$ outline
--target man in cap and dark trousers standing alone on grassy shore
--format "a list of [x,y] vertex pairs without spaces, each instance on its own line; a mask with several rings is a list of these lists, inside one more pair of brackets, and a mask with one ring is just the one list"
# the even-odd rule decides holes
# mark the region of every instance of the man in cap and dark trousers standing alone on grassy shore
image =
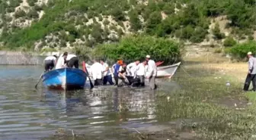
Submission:
[[256,91],[256,58],[253,57],[251,51],[247,53],[248,61],[248,74],[245,79],[244,91],[248,91],[252,81],[253,91]]

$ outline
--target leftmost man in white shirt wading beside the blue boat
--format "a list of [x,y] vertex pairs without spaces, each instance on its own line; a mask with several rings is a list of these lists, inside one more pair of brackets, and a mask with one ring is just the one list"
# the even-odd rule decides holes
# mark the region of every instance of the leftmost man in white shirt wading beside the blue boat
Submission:
[[102,73],[104,72],[102,64],[94,60],[94,64],[91,65],[91,75],[94,79],[94,86],[102,85]]

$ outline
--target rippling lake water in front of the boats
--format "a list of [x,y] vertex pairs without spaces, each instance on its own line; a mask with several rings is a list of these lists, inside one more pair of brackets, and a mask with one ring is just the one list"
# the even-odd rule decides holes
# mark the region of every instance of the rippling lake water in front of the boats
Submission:
[[42,70],[0,66],[0,139],[42,139],[59,129],[103,138],[113,130],[111,139],[125,138],[115,131],[155,126],[156,93],[177,88],[174,82],[159,82],[157,91],[102,86],[62,92],[44,89],[40,83],[35,90]]

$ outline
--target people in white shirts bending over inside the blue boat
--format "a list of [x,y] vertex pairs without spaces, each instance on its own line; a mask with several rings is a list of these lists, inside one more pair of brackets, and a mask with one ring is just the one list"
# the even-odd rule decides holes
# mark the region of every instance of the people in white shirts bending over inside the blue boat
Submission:
[[64,54],[62,54],[59,58],[58,57],[58,54],[55,53],[44,59],[45,72],[53,70],[53,67],[56,69],[61,69],[64,67],[79,67],[79,60],[75,54],[68,54],[68,52],[64,52]]

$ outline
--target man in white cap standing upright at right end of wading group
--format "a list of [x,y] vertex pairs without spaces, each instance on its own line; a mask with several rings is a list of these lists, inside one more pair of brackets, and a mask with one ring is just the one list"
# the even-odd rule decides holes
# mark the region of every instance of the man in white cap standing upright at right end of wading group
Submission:
[[157,75],[157,68],[155,65],[155,61],[150,59],[150,55],[146,55],[146,61],[148,62],[148,70],[146,73],[146,78],[149,79],[150,89],[156,89],[155,77]]

